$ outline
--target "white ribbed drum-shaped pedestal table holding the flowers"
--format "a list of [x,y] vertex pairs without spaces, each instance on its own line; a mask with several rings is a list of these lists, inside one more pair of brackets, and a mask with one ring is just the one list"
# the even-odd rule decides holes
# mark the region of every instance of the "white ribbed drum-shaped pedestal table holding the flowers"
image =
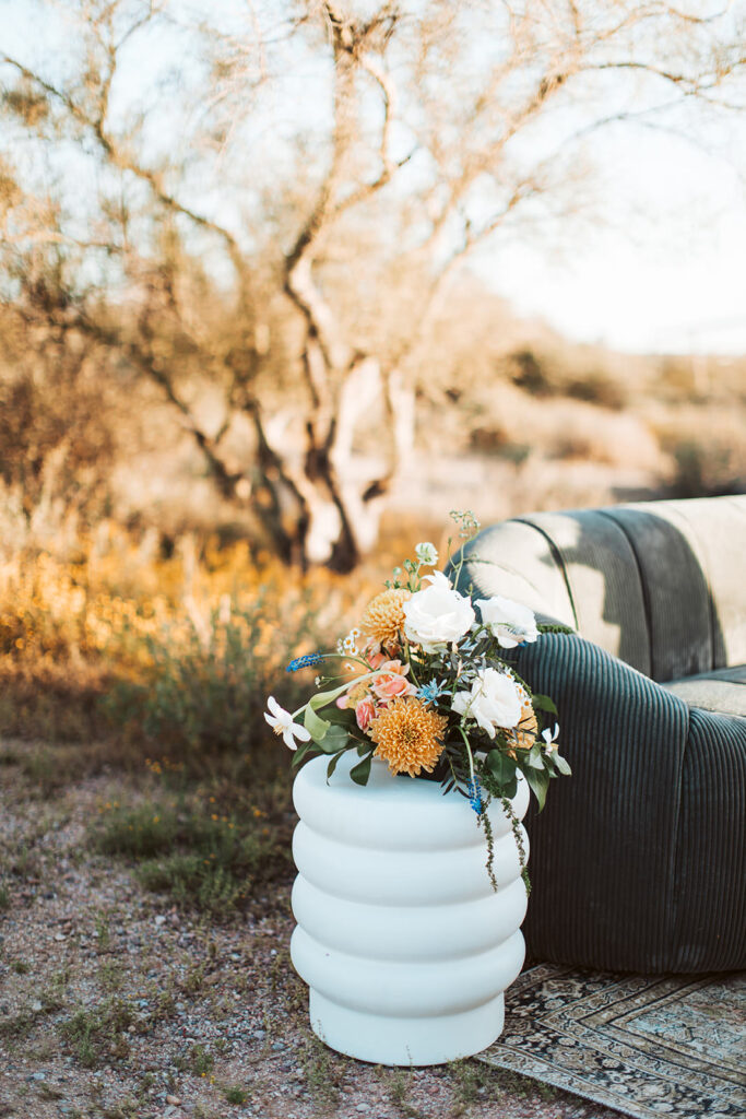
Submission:
[[[291,957],[310,987],[311,1026],[376,1064],[471,1056],[500,1035],[502,993],[523,962],[526,887],[510,821],[493,802],[495,893],[469,801],[377,761],[360,788],[349,777],[358,761],[343,755],[328,784],[328,759],[317,758],[293,788]],[[528,798],[521,779],[519,818]]]

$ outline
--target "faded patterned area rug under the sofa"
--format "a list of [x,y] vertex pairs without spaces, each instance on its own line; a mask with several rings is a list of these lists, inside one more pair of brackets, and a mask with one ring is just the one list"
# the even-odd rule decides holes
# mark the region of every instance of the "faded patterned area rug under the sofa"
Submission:
[[480,1060],[635,1119],[744,1119],[746,972],[631,976],[541,963]]

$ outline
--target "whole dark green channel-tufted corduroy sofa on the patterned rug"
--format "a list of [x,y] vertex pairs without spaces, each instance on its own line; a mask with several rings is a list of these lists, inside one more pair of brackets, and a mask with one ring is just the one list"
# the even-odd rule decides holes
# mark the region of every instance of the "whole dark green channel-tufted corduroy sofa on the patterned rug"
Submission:
[[460,586],[526,602],[516,667],[573,777],[528,819],[529,953],[746,967],[746,496],[542,513],[484,529]]

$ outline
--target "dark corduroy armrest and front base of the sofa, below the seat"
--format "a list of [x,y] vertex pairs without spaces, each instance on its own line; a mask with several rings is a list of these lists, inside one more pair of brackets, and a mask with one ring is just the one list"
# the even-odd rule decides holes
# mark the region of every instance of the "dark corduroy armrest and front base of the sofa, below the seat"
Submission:
[[511,657],[559,712],[573,777],[529,811],[533,957],[633,971],[746,966],[746,720],[690,709],[576,634]]

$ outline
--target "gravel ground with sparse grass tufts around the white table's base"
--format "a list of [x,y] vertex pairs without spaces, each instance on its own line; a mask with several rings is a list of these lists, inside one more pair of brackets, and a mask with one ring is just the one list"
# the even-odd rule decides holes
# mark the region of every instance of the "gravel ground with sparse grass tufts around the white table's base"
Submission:
[[104,774],[32,791],[0,767],[0,1117],[617,1116],[473,1060],[332,1053],[290,966],[290,883],[230,923],[192,918],[86,843],[100,806],[136,789]]

